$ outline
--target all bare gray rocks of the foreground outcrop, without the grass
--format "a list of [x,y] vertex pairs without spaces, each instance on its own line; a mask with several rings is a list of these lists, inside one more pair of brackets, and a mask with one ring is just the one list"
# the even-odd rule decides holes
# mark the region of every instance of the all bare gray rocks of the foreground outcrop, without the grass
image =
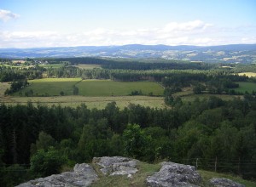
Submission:
[[[85,163],[76,164],[73,172],[37,178],[20,184],[18,187],[86,187],[99,180],[102,175],[127,175],[129,181],[132,181],[133,175],[138,171],[137,162],[137,160],[121,156],[95,157],[92,164],[94,168]],[[193,166],[170,161],[162,162],[160,171],[146,178],[145,182],[148,187],[195,187],[201,185],[201,176]],[[214,187],[244,187],[227,178],[212,178],[209,184]]]

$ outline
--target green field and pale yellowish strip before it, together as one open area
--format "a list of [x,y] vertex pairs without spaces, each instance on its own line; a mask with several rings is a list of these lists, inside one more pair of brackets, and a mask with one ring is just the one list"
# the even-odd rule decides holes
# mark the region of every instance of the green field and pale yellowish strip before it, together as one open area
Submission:
[[[88,108],[104,108],[109,102],[115,101],[120,109],[129,104],[143,105],[154,108],[166,107],[163,97],[128,96],[131,91],[142,90],[143,94],[152,92],[162,95],[163,88],[155,82],[113,82],[110,80],[83,80],[80,78],[45,78],[29,81],[30,85],[11,96],[4,96],[9,83],[1,83],[0,103],[7,105],[33,104],[61,105],[76,107],[84,103]],[[79,88],[79,95],[73,94],[73,85]],[[25,93],[33,90],[33,97],[25,97]],[[60,96],[63,91],[65,96]],[[20,94],[22,93],[22,94]],[[23,97],[20,97],[22,95]],[[48,97],[42,97],[48,96]]]

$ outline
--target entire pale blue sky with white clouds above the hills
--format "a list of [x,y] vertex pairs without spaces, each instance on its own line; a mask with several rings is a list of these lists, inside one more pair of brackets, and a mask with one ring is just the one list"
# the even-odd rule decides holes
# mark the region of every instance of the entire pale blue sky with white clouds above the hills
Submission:
[[0,0],[0,48],[256,43],[256,0]]

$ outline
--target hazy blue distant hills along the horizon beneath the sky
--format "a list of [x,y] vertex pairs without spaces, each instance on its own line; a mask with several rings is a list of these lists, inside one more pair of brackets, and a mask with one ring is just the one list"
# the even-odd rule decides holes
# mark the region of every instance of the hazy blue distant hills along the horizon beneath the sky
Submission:
[[166,46],[131,44],[123,46],[81,46],[57,48],[0,48],[0,58],[160,58],[205,62],[256,63],[256,44],[222,46]]

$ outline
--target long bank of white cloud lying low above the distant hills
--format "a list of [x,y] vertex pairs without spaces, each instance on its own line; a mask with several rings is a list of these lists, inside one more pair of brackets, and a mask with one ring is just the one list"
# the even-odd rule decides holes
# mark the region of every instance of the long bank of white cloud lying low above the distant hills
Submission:
[[[255,35],[244,35],[247,28],[243,27],[243,29],[242,32],[231,30],[229,27],[223,29],[201,20],[194,20],[183,23],[171,22],[166,26],[152,29],[113,30],[96,28],[91,31],[68,34],[57,31],[0,31],[0,48],[103,46],[132,43],[150,45],[256,43]],[[252,30],[252,28],[250,29]]]

